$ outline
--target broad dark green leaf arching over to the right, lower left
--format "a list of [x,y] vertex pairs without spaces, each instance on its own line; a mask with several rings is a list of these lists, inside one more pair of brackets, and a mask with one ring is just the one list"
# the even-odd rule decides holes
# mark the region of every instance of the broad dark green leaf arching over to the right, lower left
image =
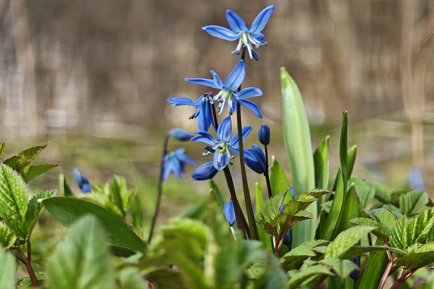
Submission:
[[93,214],[108,234],[109,244],[125,247],[147,255],[146,244],[115,214],[88,201],[68,197],[52,197],[42,204],[65,227],[69,228],[79,218]]

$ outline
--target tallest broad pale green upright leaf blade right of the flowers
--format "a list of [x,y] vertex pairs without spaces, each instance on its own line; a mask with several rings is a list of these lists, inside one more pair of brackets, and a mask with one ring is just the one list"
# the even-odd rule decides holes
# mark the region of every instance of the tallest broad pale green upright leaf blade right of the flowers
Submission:
[[[282,121],[283,140],[291,169],[294,196],[315,188],[315,169],[313,165],[312,142],[309,122],[297,84],[284,67],[280,68],[282,83]],[[316,202],[306,211],[317,216]],[[294,225],[292,247],[315,238],[316,220],[306,220]]]

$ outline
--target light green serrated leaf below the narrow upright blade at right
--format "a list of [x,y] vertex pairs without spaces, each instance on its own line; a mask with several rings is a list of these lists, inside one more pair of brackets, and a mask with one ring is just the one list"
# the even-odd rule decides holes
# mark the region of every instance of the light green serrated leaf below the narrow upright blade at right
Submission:
[[327,246],[324,257],[342,257],[358,240],[374,229],[374,226],[359,225],[343,231]]

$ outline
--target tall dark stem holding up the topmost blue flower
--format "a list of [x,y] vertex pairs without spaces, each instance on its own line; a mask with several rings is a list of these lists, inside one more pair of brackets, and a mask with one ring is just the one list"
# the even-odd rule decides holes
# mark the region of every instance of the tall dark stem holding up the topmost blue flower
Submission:
[[[246,57],[246,49],[243,47],[241,59]],[[238,92],[241,90],[241,85]],[[244,200],[246,201],[247,219],[249,220],[250,231],[253,240],[259,240],[258,229],[256,228],[255,215],[253,214],[252,200],[250,199],[249,184],[247,182],[246,166],[244,165],[243,153],[243,127],[241,125],[241,105],[237,103],[237,124],[238,124],[238,144],[240,146],[240,165],[241,177],[243,179]]]

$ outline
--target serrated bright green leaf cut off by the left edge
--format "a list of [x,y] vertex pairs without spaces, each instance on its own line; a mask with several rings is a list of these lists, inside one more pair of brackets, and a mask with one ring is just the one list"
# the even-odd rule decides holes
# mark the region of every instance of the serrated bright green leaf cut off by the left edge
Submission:
[[12,231],[25,239],[27,188],[23,178],[12,168],[0,164],[0,217]]

